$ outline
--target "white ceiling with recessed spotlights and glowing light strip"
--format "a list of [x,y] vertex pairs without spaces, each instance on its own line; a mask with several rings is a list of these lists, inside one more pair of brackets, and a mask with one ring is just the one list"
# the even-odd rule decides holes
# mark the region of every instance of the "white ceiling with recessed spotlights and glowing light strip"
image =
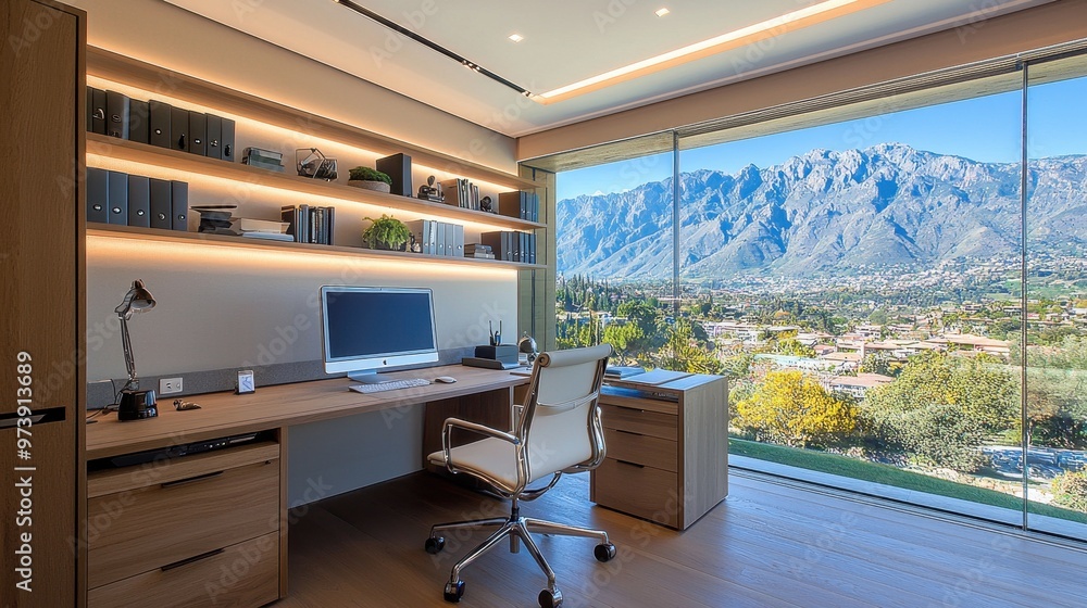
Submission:
[[[548,105],[332,0],[166,0],[511,137],[959,28],[1050,0],[888,0]],[[813,0],[355,0],[534,93],[733,31]],[[658,17],[666,7],[671,13]],[[511,34],[521,42],[508,39]]]

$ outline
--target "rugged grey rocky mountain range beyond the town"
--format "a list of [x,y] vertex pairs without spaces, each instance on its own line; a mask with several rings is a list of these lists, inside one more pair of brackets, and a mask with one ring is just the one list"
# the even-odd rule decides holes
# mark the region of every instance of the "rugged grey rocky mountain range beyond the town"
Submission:
[[[560,177],[561,179],[561,177]],[[883,143],[736,174],[679,175],[685,277],[854,274],[1007,256],[1021,248],[1019,163]],[[1033,161],[1028,246],[1087,244],[1087,156]],[[561,274],[672,275],[672,179],[558,202]]]

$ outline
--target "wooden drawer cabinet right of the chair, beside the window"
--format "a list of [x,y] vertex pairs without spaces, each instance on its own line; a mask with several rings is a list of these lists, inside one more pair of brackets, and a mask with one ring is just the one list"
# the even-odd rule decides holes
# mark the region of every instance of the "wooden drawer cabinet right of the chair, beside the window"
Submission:
[[592,471],[595,503],[685,530],[728,495],[725,378],[610,381],[600,409],[608,456]]

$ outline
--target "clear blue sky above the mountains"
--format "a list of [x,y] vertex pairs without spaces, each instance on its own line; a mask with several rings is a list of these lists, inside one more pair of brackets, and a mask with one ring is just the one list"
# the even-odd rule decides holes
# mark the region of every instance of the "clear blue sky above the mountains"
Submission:
[[[1087,78],[1030,88],[1032,157],[1087,153]],[[1015,162],[1020,151],[1022,94],[1019,91],[919,107],[821,127],[686,150],[679,170],[735,173],[748,164],[765,168],[814,148],[864,149],[877,143],[905,143],[919,150],[955,154],[982,162]],[[672,154],[658,154],[564,172],[558,176],[559,200],[579,194],[621,192],[672,175]]]

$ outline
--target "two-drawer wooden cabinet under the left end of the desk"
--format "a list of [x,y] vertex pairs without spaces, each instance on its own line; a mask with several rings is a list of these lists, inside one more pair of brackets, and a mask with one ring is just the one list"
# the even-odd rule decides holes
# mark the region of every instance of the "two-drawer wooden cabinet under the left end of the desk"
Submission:
[[261,606],[279,597],[275,441],[91,472],[88,606]]

